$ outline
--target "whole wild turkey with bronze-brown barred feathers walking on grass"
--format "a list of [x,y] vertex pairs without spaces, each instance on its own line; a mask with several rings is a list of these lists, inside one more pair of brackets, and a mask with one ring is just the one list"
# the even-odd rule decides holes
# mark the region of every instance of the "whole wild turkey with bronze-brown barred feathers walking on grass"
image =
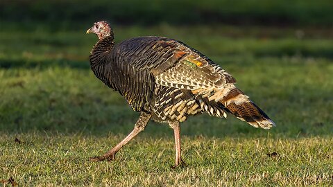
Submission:
[[95,23],[87,33],[99,37],[89,56],[96,77],[141,112],[134,130],[92,161],[113,160],[151,118],[173,128],[175,167],[182,163],[180,122],[191,115],[207,112],[221,118],[230,113],[253,127],[275,126],[262,109],[234,86],[232,75],[182,42],[166,37],[136,37],[114,45],[114,34],[106,21]]

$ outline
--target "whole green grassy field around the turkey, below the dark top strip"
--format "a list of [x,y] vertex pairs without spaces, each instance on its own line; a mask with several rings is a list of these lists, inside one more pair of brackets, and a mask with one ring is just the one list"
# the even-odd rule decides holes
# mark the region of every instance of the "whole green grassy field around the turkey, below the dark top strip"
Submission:
[[95,36],[0,30],[0,180],[12,177],[20,186],[332,186],[330,31],[116,27],[117,41],[164,35],[202,51],[277,124],[266,131],[232,116],[189,118],[182,124],[187,167],[173,170],[173,132],[157,123],[116,161],[87,160],[121,141],[138,118],[89,70]]

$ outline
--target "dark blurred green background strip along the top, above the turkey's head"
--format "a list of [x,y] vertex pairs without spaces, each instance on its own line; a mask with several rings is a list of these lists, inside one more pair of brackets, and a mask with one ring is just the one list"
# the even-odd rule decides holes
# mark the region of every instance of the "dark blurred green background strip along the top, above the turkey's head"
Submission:
[[4,0],[0,3],[1,17],[5,21],[48,22],[52,28],[77,28],[96,19],[123,25],[332,26],[332,9],[330,0]]

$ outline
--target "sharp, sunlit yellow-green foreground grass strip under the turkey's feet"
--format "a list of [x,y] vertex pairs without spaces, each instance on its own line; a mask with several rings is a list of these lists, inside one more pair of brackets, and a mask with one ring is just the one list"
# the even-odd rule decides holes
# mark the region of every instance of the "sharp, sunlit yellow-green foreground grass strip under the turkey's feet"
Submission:
[[[73,136],[74,135],[74,136]],[[143,135],[143,134],[142,134]],[[170,133],[171,135],[171,133]],[[2,171],[23,186],[320,186],[332,184],[333,139],[185,136],[186,168],[171,169],[173,139],[137,137],[113,162],[91,163],[123,136],[4,135]],[[267,153],[278,155],[268,157]],[[331,169],[330,169],[331,168]],[[6,176],[7,177],[7,176]],[[9,177],[8,177],[9,178]]]

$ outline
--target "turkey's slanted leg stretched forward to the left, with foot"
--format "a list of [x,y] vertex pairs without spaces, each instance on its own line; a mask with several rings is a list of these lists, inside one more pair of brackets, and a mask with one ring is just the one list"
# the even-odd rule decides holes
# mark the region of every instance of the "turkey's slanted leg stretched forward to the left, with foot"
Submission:
[[137,134],[139,134],[140,132],[142,132],[144,130],[144,127],[146,127],[150,118],[151,118],[151,114],[146,114],[146,113],[142,112],[140,114],[139,119],[137,120],[137,123],[135,123],[133,131],[130,132],[130,134],[128,134],[125,139],[123,139],[120,143],[118,143],[116,146],[114,146],[114,148],[112,148],[111,150],[109,150],[108,152],[103,154],[103,156],[92,157],[92,158],[90,158],[90,161],[103,161],[105,159],[108,161],[114,160],[114,156],[123,147],[123,145],[126,145],[126,143],[128,143],[128,141],[133,139],[135,136],[137,136]]

